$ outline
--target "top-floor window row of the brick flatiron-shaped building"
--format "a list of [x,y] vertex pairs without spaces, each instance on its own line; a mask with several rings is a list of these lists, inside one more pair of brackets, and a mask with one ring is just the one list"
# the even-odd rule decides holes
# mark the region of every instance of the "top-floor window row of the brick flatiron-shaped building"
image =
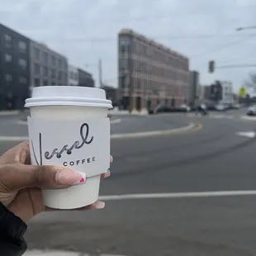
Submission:
[[119,52],[123,54],[130,53],[130,51],[135,55],[140,55],[147,59],[152,59],[161,64],[167,64],[171,67],[188,70],[187,60],[178,59],[175,56],[156,49],[156,47],[154,46],[144,45],[139,41],[133,41],[133,43],[130,44],[130,40],[120,38]]

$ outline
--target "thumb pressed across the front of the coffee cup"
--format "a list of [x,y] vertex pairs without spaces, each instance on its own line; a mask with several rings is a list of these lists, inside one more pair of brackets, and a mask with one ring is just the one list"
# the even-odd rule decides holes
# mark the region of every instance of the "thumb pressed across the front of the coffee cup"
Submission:
[[64,188],[83,183],[85,173],[50,165],[3,164],[0,183],[10,190],[24,187]]

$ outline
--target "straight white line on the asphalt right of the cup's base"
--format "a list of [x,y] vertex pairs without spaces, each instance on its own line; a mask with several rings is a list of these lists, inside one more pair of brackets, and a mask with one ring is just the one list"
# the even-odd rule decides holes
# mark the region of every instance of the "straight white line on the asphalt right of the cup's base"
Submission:
[[211,191],[211,192],[173,192],[154,194],[126,194],[99,197],[104,201],[135,200],[135,199],[160,199],[160,198],[190,198],[190,197],[240,197],[256,196],[256,190],[241,191]]

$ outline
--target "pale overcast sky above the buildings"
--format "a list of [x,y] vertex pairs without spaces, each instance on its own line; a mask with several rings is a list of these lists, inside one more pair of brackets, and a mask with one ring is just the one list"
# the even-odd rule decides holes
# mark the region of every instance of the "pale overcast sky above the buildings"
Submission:
[[[117,33],[130,28],[190,59],[201,84],[231,81],[235,90],[256,69],[255,0],[0,0],[0,22],[66,55],[98,84],[117,87]],[[216,72],[208,73],[208,61]],[[255,64],[255,68],[221,69]],[[218,67],[220,69],[218,69]],[[256,70],[255,70],[256,71]]]

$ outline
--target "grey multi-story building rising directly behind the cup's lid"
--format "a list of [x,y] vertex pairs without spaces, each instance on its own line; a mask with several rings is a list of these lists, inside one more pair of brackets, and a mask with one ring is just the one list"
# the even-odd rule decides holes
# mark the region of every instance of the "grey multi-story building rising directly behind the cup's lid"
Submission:
[[31,86],[67,85],[68,60],[47,45],[31,40]]

